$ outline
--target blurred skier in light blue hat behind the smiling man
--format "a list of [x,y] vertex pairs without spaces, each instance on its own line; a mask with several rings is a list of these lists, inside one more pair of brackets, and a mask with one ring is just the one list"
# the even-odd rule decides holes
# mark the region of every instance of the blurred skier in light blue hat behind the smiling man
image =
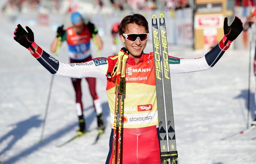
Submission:
[[[56,38],[51,43],[51,52],[56,52],[58,37],[61,37],[61,42],[66,41],[68,43],[70,63],[83,63],[92,60],[90,39],[95,37],[99,49],[102,49],[103,46],[102,40],[98,35],[97,28],[91,22],[85,24],[83,16],[78,12],[71,14],[71,22],[72,26],[66,28],[66,30],[63,29],[63,25],[57,29]],[[105,127],[103,123],[101,102],[96,93],[96,79],[90,77],[85,79],[89,85],[90,95],[93,99],[93,106],[98,122],[98,130],[102,133]],[[86,122],[83,115],[81,79],[71,78],[71,80],[75,90],[75,108],[77,110],[79,120],[79,130],[77,133],[83,134],[86,131]]]

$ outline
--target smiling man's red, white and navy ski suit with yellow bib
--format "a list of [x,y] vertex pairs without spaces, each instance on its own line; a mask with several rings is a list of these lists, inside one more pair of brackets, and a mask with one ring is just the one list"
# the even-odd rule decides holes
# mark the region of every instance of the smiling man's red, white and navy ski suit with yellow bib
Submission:
[[[170,74],[196,72],[211,69],[226,49],[221,42],[200,58],[176,58],[169,56]],[[110,151],[106,164],[111,164],[114,123],[114,82],[106,77],[109,58],[95,58],[85,63],[59,63],[40,47],[32,54],[49,72],[56,76],[101,79],[107,91],[111,118]],[[142,54],[136,64],[129,57],[126,64],[126,98],[124,100],[122,164],[160,164],[158,140],[157,98],[153,53]]]

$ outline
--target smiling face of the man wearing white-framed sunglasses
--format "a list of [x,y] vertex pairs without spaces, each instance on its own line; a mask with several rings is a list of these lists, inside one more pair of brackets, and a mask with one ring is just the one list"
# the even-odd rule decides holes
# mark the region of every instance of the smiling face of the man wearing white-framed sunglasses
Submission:
[[[131,34],[131,33],[147,33],[145,27],[137,25],[135,23],[130,23],[127,25],[126,30],[124,32],[125,34]],[[137,63],[143,53],[143,50],[146,48],[147,40],[144,42],[141,42],[139,38],[135,42],[131,42],[129,40],[126,40],[125,37],[120,34],[120,39],[125,44],[125,48],[130,52],[130,57],[134,58],[135,63]]]

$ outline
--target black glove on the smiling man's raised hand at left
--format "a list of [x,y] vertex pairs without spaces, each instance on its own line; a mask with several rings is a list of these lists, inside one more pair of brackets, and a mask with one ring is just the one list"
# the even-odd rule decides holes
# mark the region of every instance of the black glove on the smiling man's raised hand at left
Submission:
[[25,48],[29,49],[29,51],[35,52],[36,43],[34,42],[34,33],[33,31],[26,26],[26,30],[18,24],[17,28],[14,31],[14,40],[20,43],[20,45],[24,46]]

